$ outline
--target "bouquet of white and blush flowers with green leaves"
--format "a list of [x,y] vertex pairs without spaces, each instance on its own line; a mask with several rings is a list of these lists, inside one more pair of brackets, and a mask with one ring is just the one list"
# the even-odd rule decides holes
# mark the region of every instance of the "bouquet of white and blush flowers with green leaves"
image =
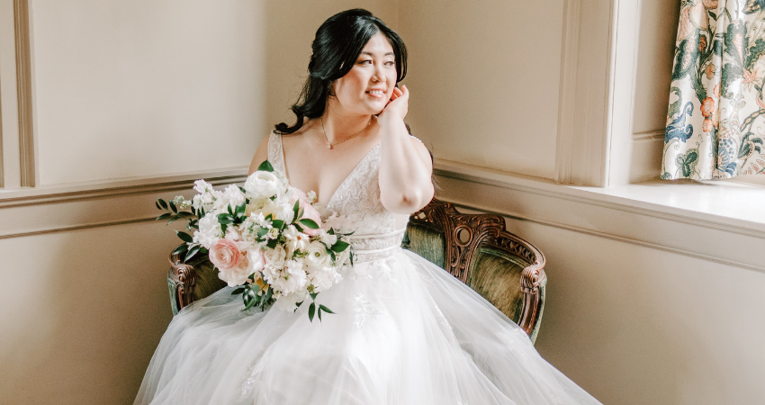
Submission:
[[184,262],[209,255],[220,279],[238,287],[232,294],[241,294],[243,311],[271,304],[297,311],[311,297],[311,321],[314,314],[321,320],[322,312],[334,313],[317,306],[316,296],[342,280],[338,269],[353,265],[352,247],[350,234],[322,228],[313,206],[316,193],[291,187],[267,160],[244,187],[230,184],[219,191],[197,180],[193,188],[192,200],[157,200],[157,208],[166,211],[157,220],[188,220],[186,229],[193,230],[175,231],[184,243],[174,254]]

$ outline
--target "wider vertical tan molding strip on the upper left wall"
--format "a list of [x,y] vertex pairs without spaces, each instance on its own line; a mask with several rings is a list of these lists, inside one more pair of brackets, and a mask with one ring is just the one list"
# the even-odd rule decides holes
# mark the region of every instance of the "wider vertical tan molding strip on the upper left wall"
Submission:
[[16,39],[16,91],[19,105],[19,154],[23,187],[37,184],[37,148],[31,90],[31,36],[29,0],[14,0]]

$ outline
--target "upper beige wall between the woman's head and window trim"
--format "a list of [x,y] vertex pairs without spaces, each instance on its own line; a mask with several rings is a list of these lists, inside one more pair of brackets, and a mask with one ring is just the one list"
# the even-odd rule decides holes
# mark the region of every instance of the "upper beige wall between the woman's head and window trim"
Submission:
[[554,178],[563,0],[401,2],[410,121],[436,157]]

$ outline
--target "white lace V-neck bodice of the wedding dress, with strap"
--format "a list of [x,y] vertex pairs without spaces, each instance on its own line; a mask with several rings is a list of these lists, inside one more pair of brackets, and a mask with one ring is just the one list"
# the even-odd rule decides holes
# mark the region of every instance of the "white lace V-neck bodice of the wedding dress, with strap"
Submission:
[[[374,253],[401,246],[403,229],[396,229],[396,217],[380,201],[378,173],[382,144],[377,144],[329,198],[327,206],[317,206],[321,220],[344,232],[354,232],[351,241],[356,252]],[[287,176],[282,136],[271,132],[268,161]],[[304,192],[304,191],[303,191]]]

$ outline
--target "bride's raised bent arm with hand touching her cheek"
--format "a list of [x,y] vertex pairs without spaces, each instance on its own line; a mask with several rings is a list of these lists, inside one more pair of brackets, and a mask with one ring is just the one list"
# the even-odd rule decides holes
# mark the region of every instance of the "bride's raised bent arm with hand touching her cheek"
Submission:
[[380,200],[395,213],[409,214],[433,198],[433,165],[428,148],[412,138],[404,124],[409,89],[395,89],[392,102],[378,116],[383,130],[383,157],[380,162]]

